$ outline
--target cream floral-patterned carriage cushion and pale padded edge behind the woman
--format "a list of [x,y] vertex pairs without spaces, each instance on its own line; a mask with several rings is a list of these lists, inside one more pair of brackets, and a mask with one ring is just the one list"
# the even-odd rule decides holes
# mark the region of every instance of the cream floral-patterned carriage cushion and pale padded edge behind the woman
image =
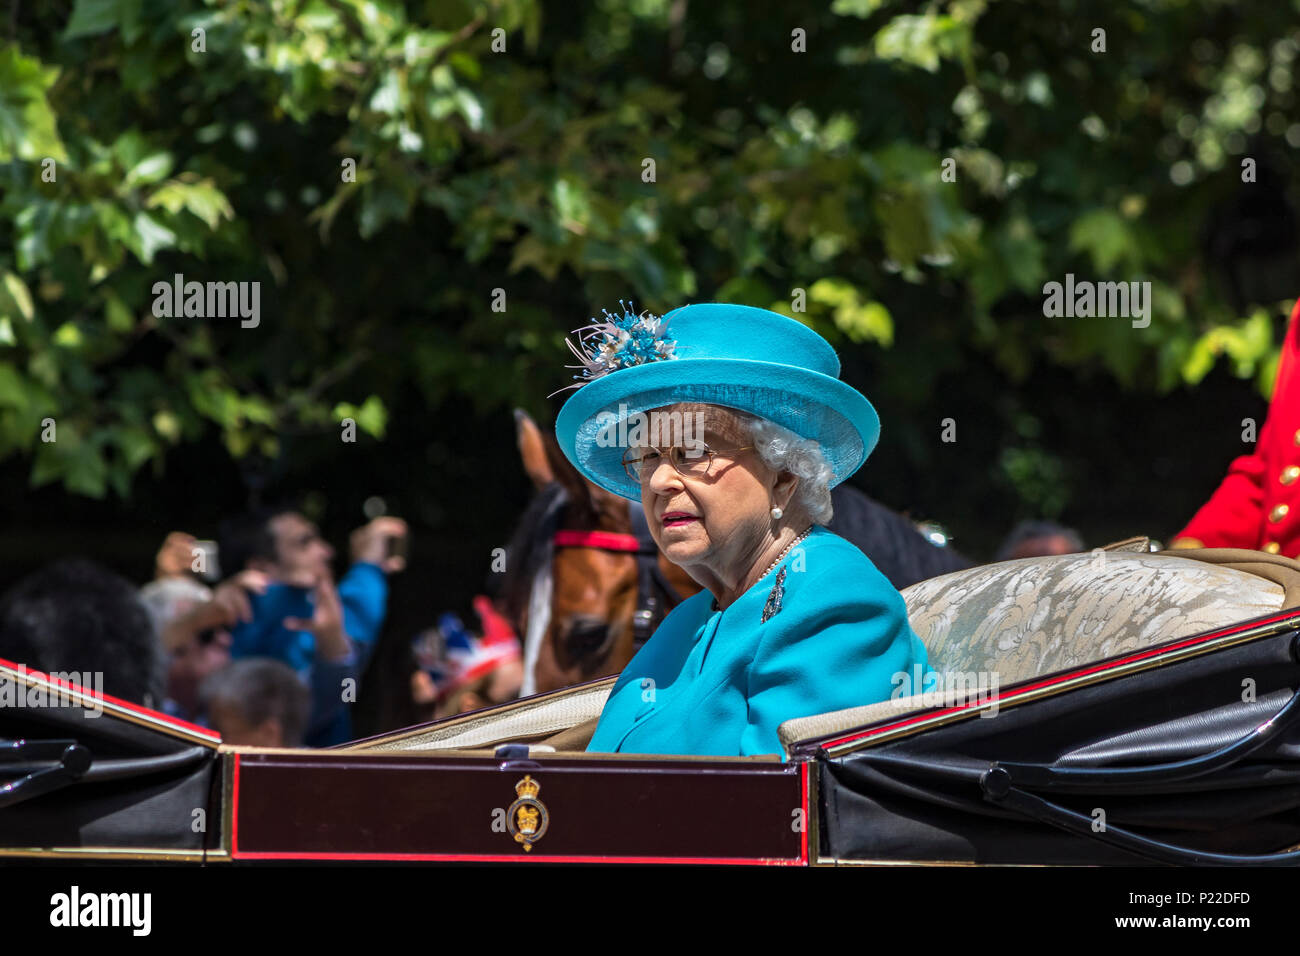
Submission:
[[[980,675],[998,688],[1277,611],[1297,596],[1300,564],[1235,551],[1092,551],[1022,558],[906,588],[907,617],[946,685]],[[1258,559],[1262,558],[1265,567]],[[1232,564],[1252,567],[1242,570]],[[1254,567],[1253,564],[1258,564]],[[1266,575],[1266,576],[1265,576]],[[984,676],[984,687],[992,678]],[[900,687],[904,687],[900,684]],[[927,709],[915,696],[786,721],[779,736],[827,736]]]

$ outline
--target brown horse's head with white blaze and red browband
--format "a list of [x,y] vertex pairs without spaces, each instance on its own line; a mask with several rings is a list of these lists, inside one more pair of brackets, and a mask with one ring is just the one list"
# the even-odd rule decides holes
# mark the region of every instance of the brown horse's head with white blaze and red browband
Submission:
[[[515,423],[537,489],[507,558],[506,604],[525,635],[525,692],[618,674],[633,654],[636,555],[598,542],[555,546],[554,538],[556,531],[630,535],[629,502],[584,479],[528,415],[516,411]],[[662,554],[658,562],[679,594],[699,589]]]

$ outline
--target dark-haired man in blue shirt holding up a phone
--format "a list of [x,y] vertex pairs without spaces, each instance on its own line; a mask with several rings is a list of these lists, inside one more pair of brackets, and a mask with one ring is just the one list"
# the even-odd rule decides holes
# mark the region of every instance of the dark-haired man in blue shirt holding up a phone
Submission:
[[[263,510],[231,523],[221,557],[231,572],[257,571],[264,584],[243,588],[234,607],[234,658],[283,661],[311,688],[306,744],[329,747],[352,737],[348,704],[384,626],[386,575],[406,558],[393,541],[407,537],[400,518],[376,518],[351,535],[352,566],[334,584],[334,549],[316,525],[291,509]],[[351,682],[351,683],[348,683]]]

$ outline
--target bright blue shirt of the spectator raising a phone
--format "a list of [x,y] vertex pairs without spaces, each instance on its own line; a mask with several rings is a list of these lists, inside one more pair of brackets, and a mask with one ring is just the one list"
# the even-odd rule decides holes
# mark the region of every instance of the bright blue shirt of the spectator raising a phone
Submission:
[[387,579],[378,564],[358,562],[343,575],[338,583],[338,600],[343,606],[343,632],[351,641],[352,652],[341,661],[317,661],[316,636],[283,624],[285,618],[311,619],[312,596],[306,588],[273,584],[265,594],[254,594],[252,620],[231,630],[233,658],[270,657],[282,661],[311,688],[308,747],[330,747],[352,739],[343,680],[360,680],[384,627],[387,596]]

